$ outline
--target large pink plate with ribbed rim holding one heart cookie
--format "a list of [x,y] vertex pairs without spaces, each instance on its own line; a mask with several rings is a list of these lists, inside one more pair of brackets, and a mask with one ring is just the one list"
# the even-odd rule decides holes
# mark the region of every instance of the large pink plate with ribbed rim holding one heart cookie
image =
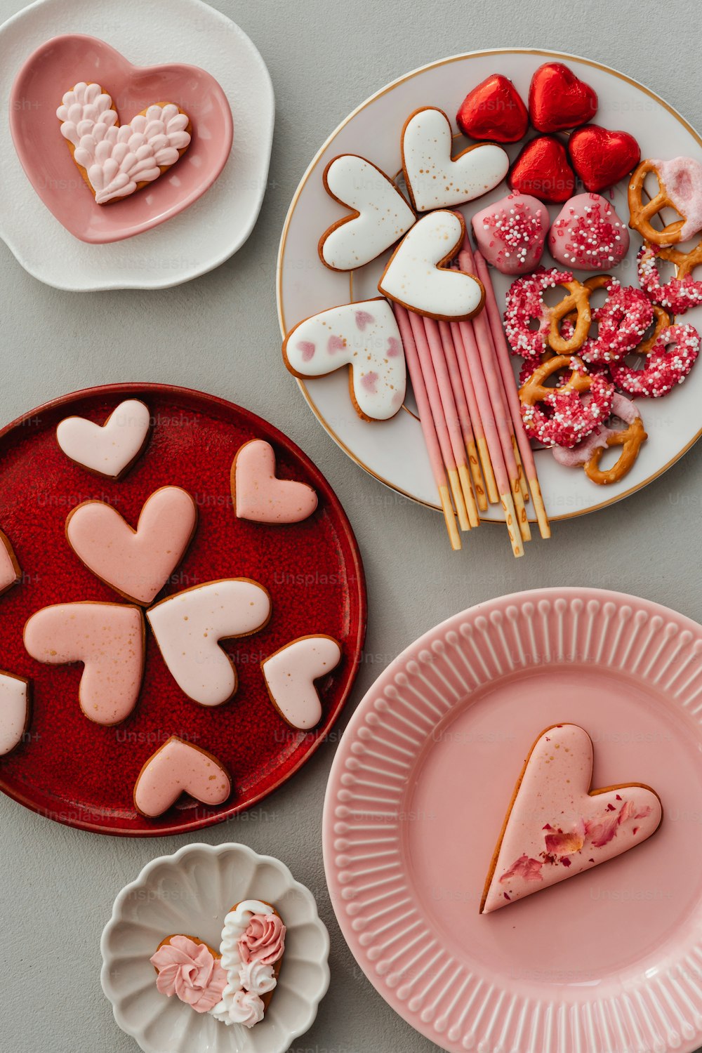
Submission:
[[[524,757],[548,724],[595,743],[594,786],[645,782],[650,840],[478,913]],[[413,643],[335,758],[324,861],[342,932],[442,1049],[691,1053],[702,1046],[702,627],[647,600],[544,589]]]

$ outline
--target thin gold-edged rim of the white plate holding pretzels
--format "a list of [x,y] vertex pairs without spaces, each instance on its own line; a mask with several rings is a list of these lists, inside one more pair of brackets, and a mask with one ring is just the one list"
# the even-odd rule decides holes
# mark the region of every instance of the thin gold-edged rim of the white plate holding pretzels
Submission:
[[[315,171],[315,168],[319,164],[319,161],[320,161],[321,157],[323,156],[324,152],[327,150],[327,147],[330,145],[330,143],[334,141],[334,139],[336,139],[336,137],[339,135],[339,133],[359,113],[361,113],[361,111],[365,110],[376,99],[380,98],[381,96],[385,95],[386,93],[388,93],[390,91],[394,91],[396,87],[400,86],[405,81],[408,81],[412,78],[416,77],[418,74],[424,73],[424,72],[426,72],[428,69],[437,68],[439,66],[448,65],[448,64],[450,64],[453,62],[458,62],[458,61],[461,61],[461,60],[466,59],[466,58],[476,57],[476,56],[490,56],[490,55],[536,55],[536,56],[545,57],[545,58],[551,58],[551,59],[568,59],[570,61],[582,62],[585,65],[589,65],[589,66],[593,66],[593,67],[595,67],[597,69],[601,69],[601,71],[603,71],[603,72],[605,72],[607,74],[611,74],[615,77],[618,77],[620,80],[624,80],[627,83],[631,84],[634,87],[636,87],[639,91],[643,92],[649,98],[653,98],[656,102],[659,102],[666,111],[668,111],[668,113],[673,117],[675,117],[683,125],[683,127],[685,128],[685,131],[689,135],[693,136],[693,138],[699,143],[699,145],[702,146],[702,135],[700,135],[700,133],[698,133],[693,127],[693,125],[689,123],[689,121],[687,121],[682,116],[682,114],[680,114],[674,106],[671,106],[668,102],[666,102],[665,99],[662,99],[654,91],[651,91],[650,88],[646,87],[645,84],[642,84],[640,81],[636,80],[634,77],[629,77],[628,74],[621,73],[619,69],[616,69],[614,66],[609,66],[609,65],[607,65],[606,63],[603,63],[603,62],[598,62],[595,59],[585,58],[584,56],[581,56],[581,55],[574,55],[574,54],[571,54],[569,52],[559,52],[559,51],[551,51],[551,49],[547,49],[547,48],[538,48],[538,47],[488,47],[488,48],[478,48],[476,51],[463,52],[463,53],[460,53],[460,54],[457,54],[457,55],[446,56],[445,58],[436,59],[433,62],[427,62],[427,63],[424,63],[423,65],[417,66],[416,68],[409,71],[408,73],[402,74],[400,77],[397,77],[395,80],[389,81],[383,87],[379,88],[377,92],[374,92],[370,96],[368,96],[368,98],[366,98],[358,106],[356,106],[336,126],[336,128],[330,133],[330,135],[327,136],[327,138],[324,140],[324,142],[319,147],[319,150],[317,151],[317,153],[313,157],[312,161],[307,165],[305,172],[303,173],[303,175],[302,175],[302,177],[300,179],[300,182],[298,183],[298,186],[296,187],[296,191],[295,191],[295,193],[293,195],[293,199],[290,201],[289,207],[287,210],[287,214],[285,216],[285,221],[283,223],[283,230],[282,230],[281,237],[280,237],[280,243],[279,243],[279,246],[278,246],[278,261],[277,261],[277,266],[276,266],[276,300],[277,300],[277,306],[278,306],[278,324],[279,324],[279,327],[280,327],[281,337],[284,338],[286,336],[286,333],[287,333],[287,330],[285,327],[285,313],[284,313],[284,307],[283,307],[282,287],[283,287],[283,263],[284,263],[284,256],[285,256],[285,249],[286,249],[286,242],[287,242],[288,229],[289,229],[290,220],[293,218],[293,214],[294,214],[294,212],[295,212],[295,210],[297,207],[298,200],[299,200],[299,198],[300,198],[300,196],[302,194],[302,191],[304,190],[304,187],[305,187],[305,185],[306,185],[309,177],[312,176],[313,172]],[[400,494],[403,497],[406,497],[408,500],[414,501],[416,504],[424,505],[425,508],[434,509],[437,512],[441,512],[441,505],[438,502],[435,503],[434,501],[430,501],[430,502],[429,501],[425,501],[422,498],[417,497],[415,494],[408,493],[407,491],[405,491],[405,490],[401,489],[400,486],[396,485],[395,483],[393,483],[388,479],[383,478],[376,471],[374,471],[374,469],[372,469],[368,464],[366,464],[363,460],[361,460],[360,456],[358,456],[350,449],[350,446],[348,446],[344,442],[344,440],[341,438],[341,436],[339,436],[336,433],[336,431],[333,428],[333,425],[326,421],[326,419],[324,418],[321,410],[319,409],[319,406],[315,402],[315,400],[314,400],[314,398],[313,398],[313,396],[312,396],[312,394],[309,392],[309,389],[308,389],[307,384],[305,383],[305,381],[303,379],[299,378],[299,377],[296,377],[295,379],[296,379],[296,382],[298,384],[298,388],[302,392],[302,395],[303,395],[303,397],[304,397],[307,405],[312,410],[313,414],[315,415],[315,417],[317,418],[317,420],[319,421],[319,423],[322,425],[322,428],[327,433],[327,435],[334,440],[334,442],[336,442],[336,444],[341,450],[343,450],[343,452],[346,454],[346,456],[352,461],[354,461],[355,464],[358,464],[369,476],[372,476],[378,482],[381,482],[384,486],[386,486],[388,490],[393,491],[394,493],[397,493],[397,494]],[[678,452],[678,454],[675,457],[673,457],[664,465],[662,465],[660,469],[658,469],[656,472],[654,472],[651,475],[649,475],[646,479],[642,480],[637,485],[631,486],[631,488],[629,488],[628,490],[625,490],[622,493],[610,495],[607,499],[605,499],[603,501],[600,501],[597,504],[588,505],[588,506],[586,506],[584,509],[581,509],[579,511],[565,512],[565,513],[562,513],[562,514],[550,514],[549,513],[549,516],[548,516],[549,520],[551,522],[559,522],[561,520],[574,519],[574,518],[579,517],[579,516],[588,515],[591,512],[599,512],[602,509],[609,508],[610,505],[616,504],[618,501],[621,501],[624,498],[629,497],[631,494],[638,493],[638,491],[643,490],[649,483],[655,482],[655,480],[658,479],[665,472],[667,472],[668,469],[673,468],[674,464],[676,464],[682,457],[685,456],[685,454],[695,445],[695,443],[700,439],[701,436],[702,436],[702,426],[699,429],[699,431],[697,432],[697,434],[684,445],[684,448]],[[530,508],[527,508],[527,514],[528,514],[529,522],[536,522],[536,517],[534,515],[534,511]],[[483,519],[483,518],[481,518],[481,522],[499,522],[499,520]]]

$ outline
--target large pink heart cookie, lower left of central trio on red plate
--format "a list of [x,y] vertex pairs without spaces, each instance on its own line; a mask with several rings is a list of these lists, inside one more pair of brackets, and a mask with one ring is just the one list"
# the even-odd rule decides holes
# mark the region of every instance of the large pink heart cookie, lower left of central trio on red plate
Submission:
[[80,708],[96,723],[125,720],[137,704],[144,671],[144,620],[125,603],[56,603],[24,627],[24,647],[49,665],[83,662]]

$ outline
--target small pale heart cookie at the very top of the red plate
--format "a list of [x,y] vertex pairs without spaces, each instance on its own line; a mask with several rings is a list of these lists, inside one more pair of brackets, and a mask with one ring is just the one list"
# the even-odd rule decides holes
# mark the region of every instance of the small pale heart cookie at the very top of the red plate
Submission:
[[121,479],[143,451],[149,428],[148,406],[126,399],[102,425],[84,417],[66,417],[56,429],[56,438],[76,464],[106,479]]

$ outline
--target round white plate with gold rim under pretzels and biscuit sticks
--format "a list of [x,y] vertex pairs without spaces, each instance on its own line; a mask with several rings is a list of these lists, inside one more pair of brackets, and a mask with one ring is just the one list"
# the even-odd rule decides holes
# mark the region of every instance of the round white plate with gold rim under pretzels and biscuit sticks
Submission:
[[[676,111],[630,77],[588,59],[555,52],[504,48],[458,55],[415,69],[377,92],[342,121],[318,152],[296,191],[278,257],[278,313],[283,335],[303,318],[326,307],[377,296],[378,278],[389,256],[388,252],[352,275],[329,271],[320,262],[317,244],[321,234],[346,214],[324,191],[322,173],[327,162],[339,154],[361,154],[396,177],[401,163],[400,132],[413,111],[423,105],[439,106],[453,121],[465,95],[492,73],[509,77],[526,99],[535,69],[553,58],[564,61],[598,93],[600,107],[595,122],[634,135],[643,157],[683,154],[702,160],[702,138]],[[457,148],[468,144],[462,137],[459,140]],[[517,155],[521,145],[507,147],[510,157]],[[506,193],[506,184],[501,183],[490,194],[464,205],[462,212],[469,220],[475,212]],[[627,218],[625,183],[615,188],[614,202],[622,218]],[[559,208],[549,207],[551,218]],[[614,272],[624,284],[637,284],[636,253],[641,242],[635,232],[631,235],[628,255]],[[551,265],[547,253],[543,262]],[[665,275],[665,271],[662,273]],[[494,270],[493,277],[498,300],[503,302],[508,279]],[[688,312],[685,321],[702,330],[702,309]],[[393,420],[368,423],[354,411],[345,370],[298,383],[320,423],[353,460],[393,490],[423,504],[439,506],[412,395]],[[701,398],[702,366],[698,364],[685,383],[665,398],[640,399],[638,404],[648,441],[629,474],[606,489],[590,482],[582,470],[562,468],[548,451],[539,451],[537,469],[549,517],[566,519],[593,512],[656,479],[702,434],[698,412]],[[527,510],[529,518],[534,518],[528,505]],[[498,519],[498,506],[492,506],[484,518]]]

